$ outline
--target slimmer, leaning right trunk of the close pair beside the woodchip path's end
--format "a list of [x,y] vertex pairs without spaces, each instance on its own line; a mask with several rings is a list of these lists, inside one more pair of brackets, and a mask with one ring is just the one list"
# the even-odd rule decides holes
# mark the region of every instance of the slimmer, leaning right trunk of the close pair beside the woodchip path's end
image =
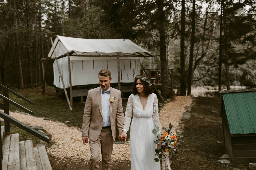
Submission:
[[196,0],[193,0],[192,11],[192,30],[191,30],[191,42],[190,42],[190,54],[189,54],[189,67],[188,67],[188,96],[191,94],[191,80],[192,80],[192,67],[194,58],[194,44],[195,44],[195,16],[196,16]]

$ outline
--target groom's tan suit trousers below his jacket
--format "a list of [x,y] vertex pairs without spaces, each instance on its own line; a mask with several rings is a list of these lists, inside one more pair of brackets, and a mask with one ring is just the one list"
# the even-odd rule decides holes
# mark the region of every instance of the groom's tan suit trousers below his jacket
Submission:
[[102,155],[102,170],[110,170],[110,162],[111,162],[111,154],[113,150],[113,137],[111,132],[111,127],[102,128],[100,132],[100,136],[96,141],[92,141],[89,139],[90,145],[90,166],[91,170],[99,170],[100,169],[100,148]]

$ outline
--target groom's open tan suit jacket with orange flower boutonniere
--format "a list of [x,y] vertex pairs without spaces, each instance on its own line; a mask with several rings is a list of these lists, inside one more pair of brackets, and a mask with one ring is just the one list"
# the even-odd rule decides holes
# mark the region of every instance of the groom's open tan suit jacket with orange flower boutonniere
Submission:
[[[113,139],[116,137],[115,120],[119,129],[119,134],[122,133],[124,124],[123,105],[121,91],[110,87],[110,96],[115,97],[112,106],[110,106],[110,124]],[[88,136],[92,141],[96,141],[102,129],[102,106],[101,106],[101,90],[100,87],[88,91],[86,104],[83,114],[82,136]]]

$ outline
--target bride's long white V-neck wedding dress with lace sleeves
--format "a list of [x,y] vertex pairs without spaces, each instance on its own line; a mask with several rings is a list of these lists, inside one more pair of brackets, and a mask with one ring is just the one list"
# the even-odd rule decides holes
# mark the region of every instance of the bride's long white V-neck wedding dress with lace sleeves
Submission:
[[[148,96],[145,110],[141,105],[138,95],[131,94],[124,116],[123,130],[129,130],[131,117],[133,119],[130,129],[130,150],[131,150],[131,169],[132,170],[158,170],[160,169],[160,161],[155,162],[156,144],[154,140],[157,138],[152,133],[156,127],[161,129],[158,115],[158,100],[154,93]],[[160,133],[160,130],[159,130]]]

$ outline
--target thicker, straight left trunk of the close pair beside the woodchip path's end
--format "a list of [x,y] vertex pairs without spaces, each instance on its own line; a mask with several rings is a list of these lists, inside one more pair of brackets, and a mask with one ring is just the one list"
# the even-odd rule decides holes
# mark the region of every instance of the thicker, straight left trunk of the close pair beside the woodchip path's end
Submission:
[[186,96],[185,75],[185,0],[181,1],[181,25],[180,25],[180,95]]

